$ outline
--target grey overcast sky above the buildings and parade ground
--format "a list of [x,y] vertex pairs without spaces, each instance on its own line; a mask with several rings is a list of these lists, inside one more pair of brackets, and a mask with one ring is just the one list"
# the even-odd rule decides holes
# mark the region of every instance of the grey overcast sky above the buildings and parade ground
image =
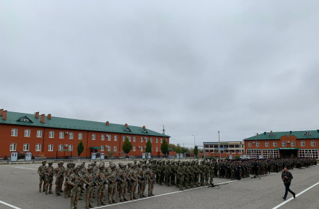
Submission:
[[317,130],[319,1],[1,1],[0,109],[171,143]]

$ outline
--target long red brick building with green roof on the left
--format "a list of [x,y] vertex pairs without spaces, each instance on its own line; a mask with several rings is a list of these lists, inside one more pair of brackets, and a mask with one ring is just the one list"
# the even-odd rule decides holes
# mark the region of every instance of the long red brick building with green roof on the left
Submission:
[[[160,156],[160,146],[169,136],[146,129],[145,126],[119,125],[54,117],[51,114],[24,114],[0,109],[0,155],[10,156],[11,151],[31,151],[32,155],[45,153],[45,157],[77,155],[79,141],[84,144],[80,157],[91,157],[91,152],[106,153],[114,150],[114,157],[122,157],[125,137],[132,142],[128,155],[141,156],[146,142],[152,142],[152,155]],[[68,150],[57,152],[57,150]],[[107,156],[107,155],[105,155]]]

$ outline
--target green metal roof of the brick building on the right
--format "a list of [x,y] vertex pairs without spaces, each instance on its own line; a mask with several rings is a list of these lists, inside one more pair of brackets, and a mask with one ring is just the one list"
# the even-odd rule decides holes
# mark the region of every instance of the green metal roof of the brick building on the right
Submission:
[[[304,135],[306,132],[310,132],[312,136],[306,136]],[[297,139],[319,139],[319,130],[304,130],[304,131],[291,131],[291,132],[272,132],[274,134],[274,137],[269,137],[271,133],[270,132],[263,132],[261,134],[258,134],[254,137],[249,137],[245,140],[271,140],[271,139],[280,139],[283,136],[295,136]]]

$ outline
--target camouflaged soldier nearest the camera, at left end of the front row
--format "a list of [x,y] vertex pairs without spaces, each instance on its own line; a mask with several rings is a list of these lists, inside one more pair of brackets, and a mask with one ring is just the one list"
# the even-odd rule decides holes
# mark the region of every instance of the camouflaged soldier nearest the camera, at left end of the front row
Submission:
[[81,194],[81,186],[84,182],[83,174],[79,173],[81,167],[79,165],[75,167],[75,172],[71,174],[68,183],[72,185],[71,189],[71,209],[77,209],[77,202],[79,201],[79,195]]

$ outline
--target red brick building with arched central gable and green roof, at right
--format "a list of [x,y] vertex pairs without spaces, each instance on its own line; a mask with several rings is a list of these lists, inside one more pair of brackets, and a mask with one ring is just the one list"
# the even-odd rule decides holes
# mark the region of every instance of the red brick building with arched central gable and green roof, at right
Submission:
[[319,130],[263,132],[244,139],[246,154],[259,157],[318,158]]

